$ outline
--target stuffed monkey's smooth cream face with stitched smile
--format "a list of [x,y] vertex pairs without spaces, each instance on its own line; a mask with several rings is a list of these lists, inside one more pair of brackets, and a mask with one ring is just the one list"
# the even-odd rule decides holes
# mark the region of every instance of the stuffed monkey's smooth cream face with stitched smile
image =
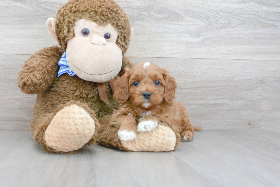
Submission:
[[116,44],[118,32],[111,25],[97,25],[80,19],[75,37],[67,43],[66,59],[70,69],[81,79],[97,83],[117,76],[122,66],[122,51]]

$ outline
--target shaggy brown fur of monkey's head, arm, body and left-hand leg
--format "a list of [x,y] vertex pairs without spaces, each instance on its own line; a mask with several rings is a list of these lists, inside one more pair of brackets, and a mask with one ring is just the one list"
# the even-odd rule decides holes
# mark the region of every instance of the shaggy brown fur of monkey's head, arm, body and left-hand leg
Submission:
[[[37,51],[25,61],[18,73],[18,86],[21,91],[26,94],[37,94],[33,108],[34,119],[31,121],[30,129],[33,138],[46,152],[65,153],[47,147],[44,142],[47,126],[56,112],[64,106],[77,104],[95,120],[95,134],[87,143],[90,145],[95,142],[99,128],[96,118],[111,114],[119,105],[119,102],[113,98],[108,82],[105,83],[105,87],[110,105],[100,100],[96,83],[85,81],[77,76],[71,77],[67,73],[57,77],[59,70],[57,63],[67,48],[67,41],[75,36],[76,21],[82,18],[101,25],[111,23],[118,31],[117,44],[123,54],[127,51],[130,42],[129,19],[125,11],[113,0],[71,0],[59,9],[55,32],[60,47],[48,47]],[[129,59],[123,56],[122,68],[117,78],[124,74],[125,68],[131,67]]]

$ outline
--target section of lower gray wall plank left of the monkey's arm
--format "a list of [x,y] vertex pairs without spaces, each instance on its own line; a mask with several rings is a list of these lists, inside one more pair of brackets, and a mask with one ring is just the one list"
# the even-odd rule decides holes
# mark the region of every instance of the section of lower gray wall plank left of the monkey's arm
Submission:
[[30,55],[0,55],[0,129],[29,129],[36,95],[22,93],[17,73]]

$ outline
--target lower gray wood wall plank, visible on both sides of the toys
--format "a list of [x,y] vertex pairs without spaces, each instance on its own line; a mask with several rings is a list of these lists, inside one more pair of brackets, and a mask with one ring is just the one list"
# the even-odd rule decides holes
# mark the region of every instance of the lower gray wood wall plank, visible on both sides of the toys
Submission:
[[[0,55],[0,129],[27,129],[35,95],[21,93],[17,72],[29,55]],[[131,57],[168,67],[178,84],[176,100],[193,126],[207,130],[280,130],[277,61]],[[13,64],[13,66],[11,66]]]

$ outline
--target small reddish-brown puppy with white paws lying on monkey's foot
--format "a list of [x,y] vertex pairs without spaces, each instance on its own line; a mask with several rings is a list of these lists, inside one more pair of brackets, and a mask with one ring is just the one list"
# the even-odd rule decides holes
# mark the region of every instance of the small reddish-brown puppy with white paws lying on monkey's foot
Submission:
[[121,104],[111,118],[120,125],[119,139],[134,140],[137,132],[151,132],[161,123],[175,129],[182,141],[191,140],[194,129],[188,112],[181,103],[173,101],[176,88],[168,71],[153,63],[139,63],[126,69],[115,83],[114,97]]

